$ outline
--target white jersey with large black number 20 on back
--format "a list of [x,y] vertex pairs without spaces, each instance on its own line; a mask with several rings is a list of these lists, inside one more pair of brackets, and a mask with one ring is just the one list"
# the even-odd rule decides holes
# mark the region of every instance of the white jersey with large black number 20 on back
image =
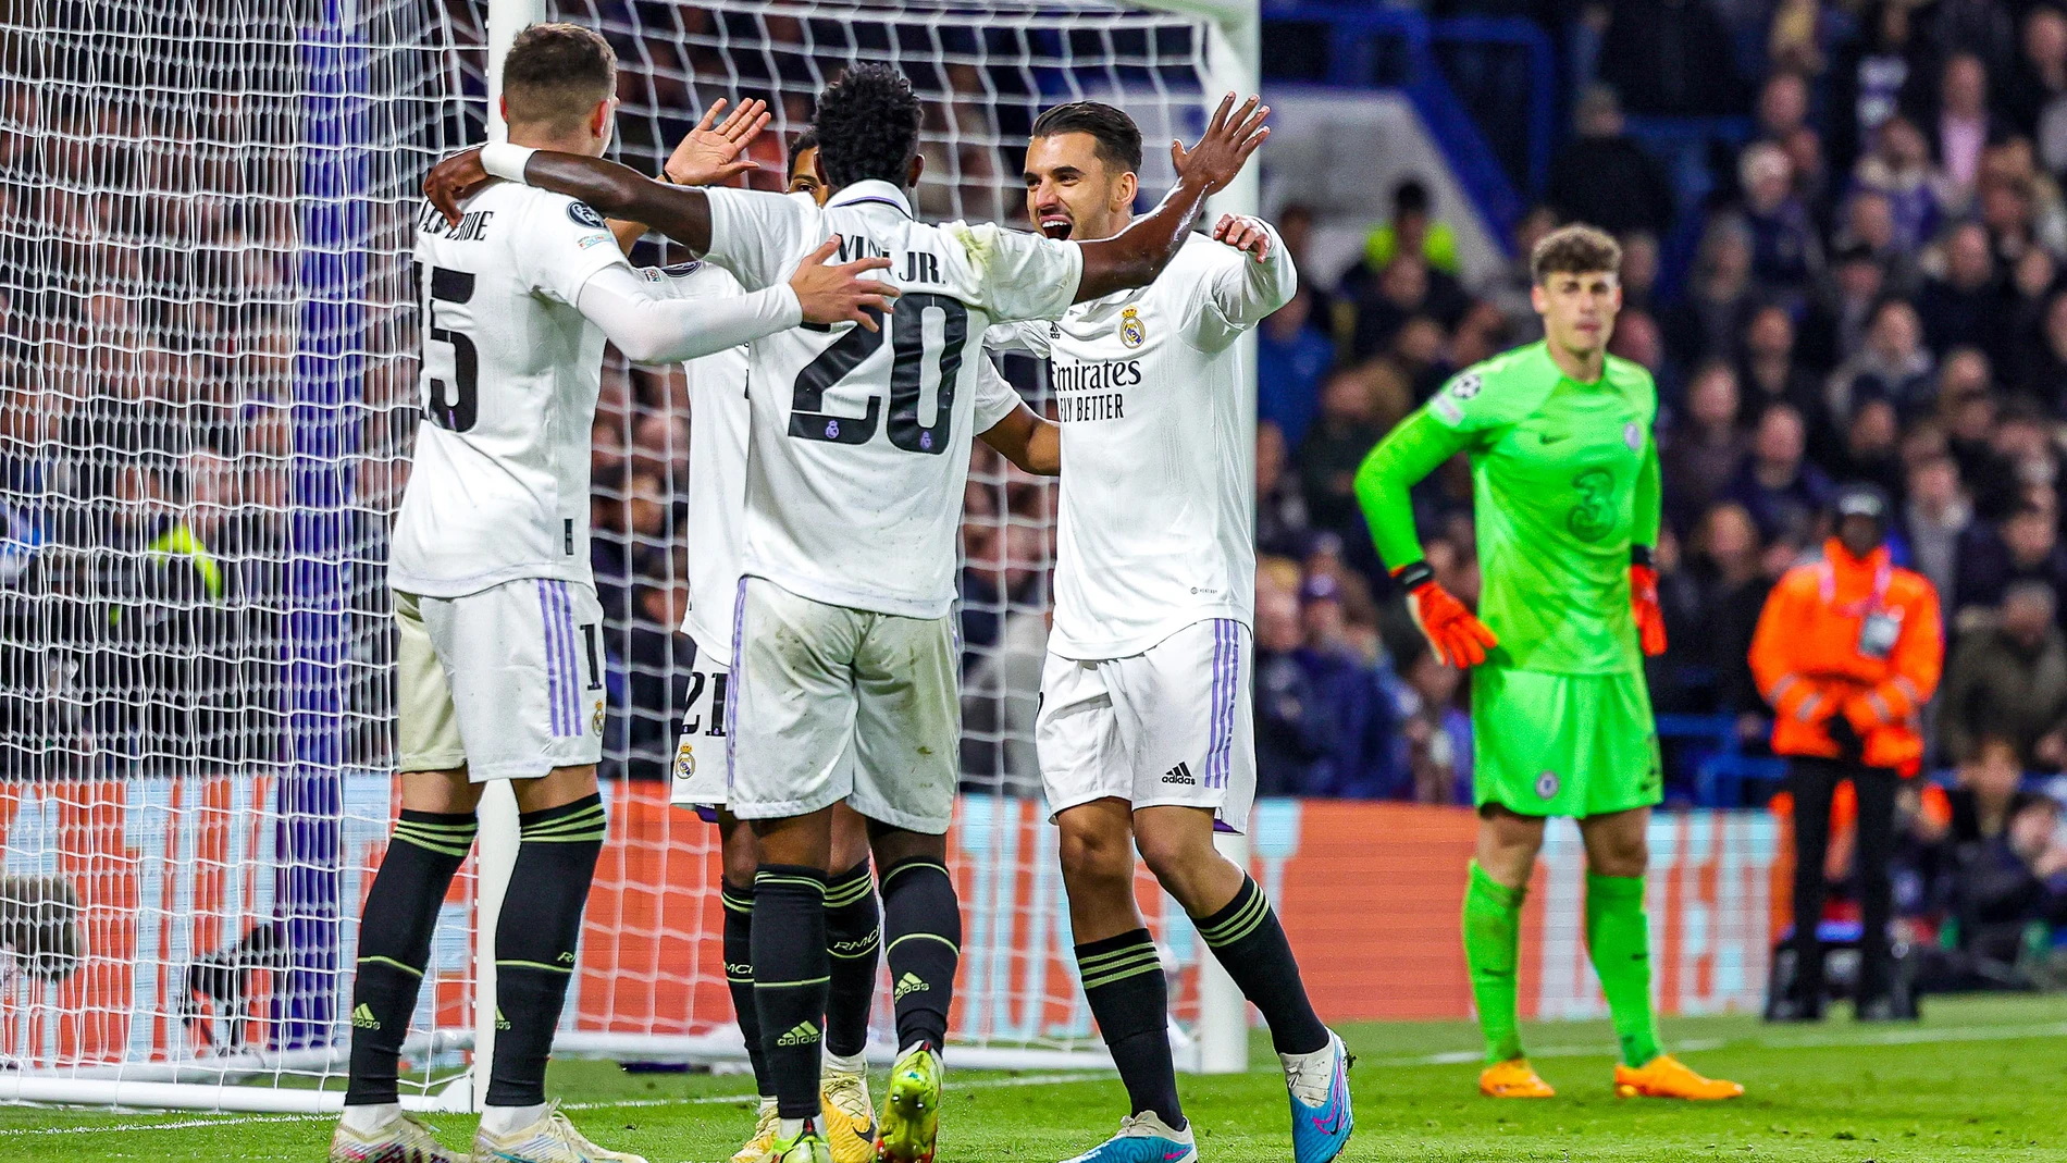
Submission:
[[829,605],[945,616],[969,438],[1017,401],[978,407],[984,331],[1069,310],[1081,250],[914,221],[889,182],[845,186],[823,209],[804,194],[709,198],[709,260],[748,291],[788,279],[835,233],[835,262],[885,256],[881,275],[903,291],[883,331],[802,326],[754,341],[744,572]]

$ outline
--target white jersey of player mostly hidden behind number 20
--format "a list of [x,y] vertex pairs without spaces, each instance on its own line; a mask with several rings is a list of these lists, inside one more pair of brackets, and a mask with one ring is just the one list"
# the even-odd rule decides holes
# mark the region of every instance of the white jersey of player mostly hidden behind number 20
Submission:
[[[709,262],[645,266],[655,295],[730,300],[740,281]],[[697,653],[732,665],[732,597],[740,587],[740,525],[746,516],[746,351],[728,347],[682,364],[688,374],[688,616]]]

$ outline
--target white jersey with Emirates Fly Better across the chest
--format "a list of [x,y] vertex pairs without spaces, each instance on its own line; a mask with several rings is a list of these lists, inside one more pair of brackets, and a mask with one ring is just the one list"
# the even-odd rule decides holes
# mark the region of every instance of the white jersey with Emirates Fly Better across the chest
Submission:
[[1255,390],[1234,341],[1296,279],[1275,235],[1257,262],[1195,233],[1147,287],[986,337],[1050,359],[1062,423],[1052,653],[1122,659],[1207,618],[1253,624]]

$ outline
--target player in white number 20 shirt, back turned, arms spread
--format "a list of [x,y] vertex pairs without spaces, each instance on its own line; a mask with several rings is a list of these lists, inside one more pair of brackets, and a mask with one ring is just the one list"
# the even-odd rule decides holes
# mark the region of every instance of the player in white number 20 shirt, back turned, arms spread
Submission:
[[[955,527],[992,322],[1060,318],[1073,302],[1155,279],[1205,196],[1261,145],[1263,109],[1230,95],[1201,143],[1172,143],[1178,186],[1120,235],[1054,242],[912,219],[920,101],[889,66],[850,68],[819,95],[819,165],[833,196],[688,190],[593,157],[488,147],[446,159],[451,205],[484,174],[527,180],[653,225],[740,285],[785,277],[831,233],[885,254],[903,293],[883,335],[843,326],[763,339],[750,357],[744,578],[732,620],[730,799],[754,822],[754,1002],[775,1078],[783,1163],[827,1159],[819,1111],[825,882],[831,808],[870,822],[899,1060],[876,1153],[932,1159],[940,1045],[961,919],[947,874],[961,706],[953,632]],[[1232,114],[1232,116],[1230,116]],[[451,207],[449,207],[451,209]],[[854,762],[847,762],[850,754]]]

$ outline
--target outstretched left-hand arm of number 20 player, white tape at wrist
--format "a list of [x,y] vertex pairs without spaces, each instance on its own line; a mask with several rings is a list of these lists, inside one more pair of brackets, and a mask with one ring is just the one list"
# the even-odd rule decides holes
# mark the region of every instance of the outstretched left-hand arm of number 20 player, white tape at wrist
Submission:
[[488,182],[508,178],[579,198],[608,219],[641,221],[697,254],[711,248],[711,200],[703,190],[653,182],[628,165],[577,153],[531,151],[523,171],[506,176],[492,174],[482,155],[482,147],[455,153],[424,178],[424,196],[455,225],[461,202]]

